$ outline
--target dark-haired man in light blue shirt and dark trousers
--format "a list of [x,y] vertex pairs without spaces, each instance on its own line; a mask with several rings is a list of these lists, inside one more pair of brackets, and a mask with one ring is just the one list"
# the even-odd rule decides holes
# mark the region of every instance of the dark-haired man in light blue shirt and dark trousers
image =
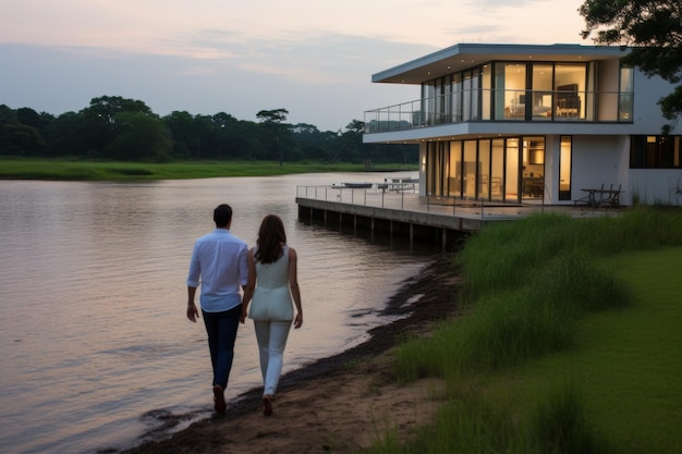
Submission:
[[228,386],[234,340],[242,315],[242,291],[248,282],[247,245],[230,233],[232,208],[223,204],[214,211],[216,230],[194,244],[187,274],[187,318],[199,316],[194,295],[202,284],[199,298],[208,348],[214,367],[215,409],[224,414],[224,390]]

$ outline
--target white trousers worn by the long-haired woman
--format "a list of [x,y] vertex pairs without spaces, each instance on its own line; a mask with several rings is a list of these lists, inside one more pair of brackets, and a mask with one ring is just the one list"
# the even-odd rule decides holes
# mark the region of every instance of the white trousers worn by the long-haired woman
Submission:
[[284,347],[291,321],[260,321],[254,320],[258,353],[260,358],[260,373],[263,375],[263,394],[275,394],[282,373]]

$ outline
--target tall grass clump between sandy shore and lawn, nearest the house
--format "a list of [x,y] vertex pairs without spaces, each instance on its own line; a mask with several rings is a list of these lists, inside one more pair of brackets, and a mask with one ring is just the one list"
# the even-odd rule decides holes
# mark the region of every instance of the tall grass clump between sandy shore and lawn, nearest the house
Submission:
[[680,212],[647,208],[596,219],[536,214],[484,230],[458,257],[466,317],[401,345],[397,377],[494,370],[568,348],[583,314],[631,298],[596,258],[673,244],[682,244]]

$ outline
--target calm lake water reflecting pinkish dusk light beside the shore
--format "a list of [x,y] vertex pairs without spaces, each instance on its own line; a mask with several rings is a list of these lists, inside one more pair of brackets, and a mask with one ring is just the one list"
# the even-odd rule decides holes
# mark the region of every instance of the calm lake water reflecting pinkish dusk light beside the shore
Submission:
[[[185,279],[221,203],[249,245],[263,217],[279,214],[299,251],[305,321],[291,332],[284,372],[361,342],[437,251],[306,224],[296,186],[391,176],[0,181],[0,452],[115,452],[163,415],[186,415],[184,426],[211,415],[206,334],[185,318]],[[227,397],[259,384],[247,321]]]

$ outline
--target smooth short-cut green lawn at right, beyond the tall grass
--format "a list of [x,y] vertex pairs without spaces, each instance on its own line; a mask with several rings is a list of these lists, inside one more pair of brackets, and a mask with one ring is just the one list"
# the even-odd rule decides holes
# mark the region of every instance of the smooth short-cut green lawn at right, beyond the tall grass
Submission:
[[608,452],[682,453],[682,248],[607,262],[633,291],[630,306],[583,318],[574,348],[496,373],[489,396],[529,414],[571,383]]

